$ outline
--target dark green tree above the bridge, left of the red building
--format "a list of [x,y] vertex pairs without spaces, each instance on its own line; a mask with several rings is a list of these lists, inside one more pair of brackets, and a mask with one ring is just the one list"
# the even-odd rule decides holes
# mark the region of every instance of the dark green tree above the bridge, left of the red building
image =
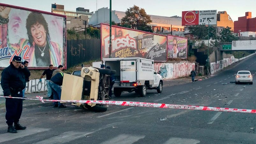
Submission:
[[237,37],[233,35],[230,27],[223,28],[220,33],[221,42],[232,42],[232,40],[238,40]]

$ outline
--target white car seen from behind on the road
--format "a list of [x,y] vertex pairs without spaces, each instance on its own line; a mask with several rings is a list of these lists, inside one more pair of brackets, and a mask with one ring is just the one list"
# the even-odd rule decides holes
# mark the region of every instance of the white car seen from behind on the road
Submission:
[[252,84],[252,74],[250,71],[248,70],[240,70],[237,72],[237,75],[236,75],[236,84],[238,83],[250,83]]

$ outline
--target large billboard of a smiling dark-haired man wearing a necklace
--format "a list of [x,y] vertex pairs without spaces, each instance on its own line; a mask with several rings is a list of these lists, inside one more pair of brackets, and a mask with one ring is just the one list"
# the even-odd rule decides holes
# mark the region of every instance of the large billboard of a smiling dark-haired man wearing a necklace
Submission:
[[9,66],[15,55],[35,69],[66,66],[66,16],[0,6],[0,67]]

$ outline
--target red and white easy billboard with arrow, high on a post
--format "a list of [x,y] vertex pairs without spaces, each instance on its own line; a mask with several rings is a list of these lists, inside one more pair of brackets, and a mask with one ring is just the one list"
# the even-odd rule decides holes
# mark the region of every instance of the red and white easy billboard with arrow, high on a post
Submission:
[[216,25],[217,10],[182,11],[181,25]]

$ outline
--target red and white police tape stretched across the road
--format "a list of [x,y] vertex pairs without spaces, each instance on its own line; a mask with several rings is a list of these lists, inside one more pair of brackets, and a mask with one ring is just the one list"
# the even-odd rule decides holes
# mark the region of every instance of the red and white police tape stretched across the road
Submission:
[[[5,97],[5,96],[0,96],[0,97]],[[202,110],[202,111],[256,113],[256,110],[250,110],[250,109],[235,109],[235,108],[179,105],[179,104],[159,104],[159,103],[147,103],[147,102],[108,101],[108,100],[106,100],[106,101],[102,101],[102,100],[50,100],[50,99],[43,99],[43,97],[41,97],[41,96],[36,96],[37,99],[23,98],[23,97],[6,97],[6,98],[40,100],[43,103],[45,101],[51,101],[51,102],[66,102],[66,103],[86,103],[86,104],[92,103],[92,104],[108,104],[108,105],[138,106],[138,107],[173,108],[173,109]]]

